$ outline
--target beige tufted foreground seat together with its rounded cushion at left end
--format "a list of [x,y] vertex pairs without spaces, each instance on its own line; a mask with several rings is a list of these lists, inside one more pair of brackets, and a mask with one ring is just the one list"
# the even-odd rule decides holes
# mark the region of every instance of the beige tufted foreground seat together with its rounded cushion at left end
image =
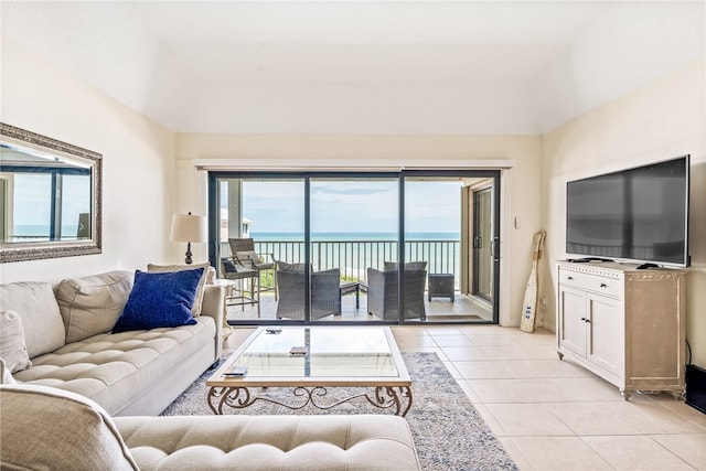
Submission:
[[0,386],[0,468],[419,470],[404,418],[385,415],[111,418],[62,389]]

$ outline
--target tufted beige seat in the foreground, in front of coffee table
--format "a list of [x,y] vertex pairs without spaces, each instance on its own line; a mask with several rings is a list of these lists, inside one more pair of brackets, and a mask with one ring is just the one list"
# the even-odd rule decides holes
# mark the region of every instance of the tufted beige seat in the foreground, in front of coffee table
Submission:
[[386,415],[116,417],[141,470],[419,470],[407,422]]

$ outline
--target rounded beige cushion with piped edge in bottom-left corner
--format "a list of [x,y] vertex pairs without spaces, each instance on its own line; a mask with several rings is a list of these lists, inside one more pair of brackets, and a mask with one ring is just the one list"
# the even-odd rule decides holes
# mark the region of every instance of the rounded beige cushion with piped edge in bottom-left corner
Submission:
[[0,469],[138,469],[113,418],[78,394],[3,385],[0,409]]

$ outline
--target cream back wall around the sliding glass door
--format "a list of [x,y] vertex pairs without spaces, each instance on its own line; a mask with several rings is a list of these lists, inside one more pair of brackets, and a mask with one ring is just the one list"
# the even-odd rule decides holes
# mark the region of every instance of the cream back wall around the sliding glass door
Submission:
[[[503,172],[501,182],[504,204],[500,319],[503,325],[518,325],[532,236],[541,228],[539,151],[536,136],[179,135],[178,186],[183,192],[180,201],[200,201],[199,211],[205,214],[205,172],[194,173],[194,159],[277,158],[293,165],[297,161],[320,159],[322,167],[330,161],[351,160],[362,169],[366,161],[510,160],[513,168]],[[518,229],[510,224],[514,216],[522,218]],[[205,247],[197,247],[194,254],[205,257]]]

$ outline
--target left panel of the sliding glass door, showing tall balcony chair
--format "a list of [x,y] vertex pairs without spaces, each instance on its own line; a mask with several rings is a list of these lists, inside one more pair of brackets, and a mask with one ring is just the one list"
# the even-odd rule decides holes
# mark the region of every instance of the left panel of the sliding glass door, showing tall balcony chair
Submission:
[[303,321],[304,180],[223,176],[211,186],[210,258],[228,290],[228,320]]

